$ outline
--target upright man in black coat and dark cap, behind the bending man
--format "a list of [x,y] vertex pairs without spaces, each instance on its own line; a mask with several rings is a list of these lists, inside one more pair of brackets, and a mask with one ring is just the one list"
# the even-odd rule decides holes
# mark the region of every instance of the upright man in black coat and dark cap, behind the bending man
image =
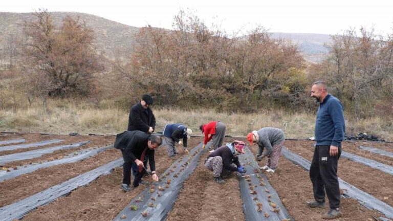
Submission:
[[156,118],[150,109],[153,99],[150,95],[143,95],[140,102],[131,107],[128,116],[128,131],[140,130],[152,133],[156,127]]

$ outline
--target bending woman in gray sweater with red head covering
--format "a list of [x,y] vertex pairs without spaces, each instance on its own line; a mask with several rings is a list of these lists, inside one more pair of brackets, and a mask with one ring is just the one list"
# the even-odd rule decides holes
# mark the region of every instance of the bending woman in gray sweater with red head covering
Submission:
[[[264,127],[258,131],[250,132],[247,135],[247,140],[251,145],[253,142],[258,144],[258,154],[256,155],[258,161],[268,157],[268,162],[261,169],[274,172],[278,166],[278,159],[285,141],[284,132],[279,128]],[[264,151],[265,148],[266,150]]]

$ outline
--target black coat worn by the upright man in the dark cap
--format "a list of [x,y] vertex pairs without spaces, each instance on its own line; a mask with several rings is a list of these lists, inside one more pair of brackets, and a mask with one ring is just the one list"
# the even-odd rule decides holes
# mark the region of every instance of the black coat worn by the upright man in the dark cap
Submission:
[[149,127],[153,130],[156,127],[156,118],[150,107],[147,109],[143,108],[141,102],[136,103],[131,107],[128,116],[128,131],[140,130],[148,132]]

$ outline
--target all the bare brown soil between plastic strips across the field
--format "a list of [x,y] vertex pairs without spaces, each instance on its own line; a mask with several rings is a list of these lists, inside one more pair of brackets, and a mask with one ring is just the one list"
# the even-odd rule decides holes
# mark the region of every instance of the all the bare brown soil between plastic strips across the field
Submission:
[[[11,140],[21,137],[27,140],[26,143],[50,139],[64,139],[63,144],[83,140],[93,141],[89,146],[82,146],[81,148],[101,147],[113,144],[115,140],[114,136],[71,137],[37,134],[0,136],[0,140]],[[226,138],[225,142],[232,142],[235,139]],[[189,149],[197,146],[202,140],[203,138],[191,138],[188,142]],[[237,140],[246,141],[244,138],[238,138]],[[286,141],[284,146],[311,161],[313,143],[312,141]],[[393,144],[373,142],[343,142],[342,149],[388,165],[393,163],[393,160],[389,158],[360,150],[358,148],[360,145],[381,148],[386,151],[393,150]],[[256,145],[250,146],[249,148],[254,155],[257,153]],[[27,150],[25,149],[23,151]],[[75,150],[73,149],[70,152],[73,151]],[[164,146],[156,150],[156,165],[159,175],[184,154],[181,147],[178,147],[178,151],[180,152],[179,156],[169,158]],[[34,162],[51,160],[55,157],[64,156],[66,153],[56,152],[48,154],[48,156],[43,156],[42,159],[35,159]],[[201,156],[199,165],[185,181],[173,210],[168,213],[167,220],[245,220],[236,175],[234,174],[227,178],[226,183],[223,185],[215,183],[212,172],[207,170],[203,165],[207,155],[208,153],[205,153]],[[119,150],[108,149],[82,162],[43,168],[29,174],[20,175],[8,181],[0,182],[0,189],[2,190],[0,207],[14,203],[120,157],[121,153]],[[17,165],[25,165],[27,163],[29,161],[18,162]],[[265,163],[266,159],[258,164],[264,166]],[[295,220],[322,220],[321,215],[328,209],[311,209],[306,204],[307,201],[313,199],[312,184],[308,171],[296,166],[281,156],[276,172],[264,173]],[[391,183],[393,183],[392,175],[344,158],[340,158],[339,160],[338,174],[342,180],[393,206],[393,192],[390,187]],[[151,181],[148,176],[144,179]],[[111,220],[133,197],[137,196],[146,188],[146,186],[141,185],[133,191],[124,192],[120,189],[121,181],[122,168],[119,167],[111,174],[102,175],[91,184],[72,191],[70,195],[60,197],[46,206],[39,207],[37,210],[27,214],[24,220]],[[376,211],[366,209],[351,198],[341,198],[341,210],[343,216],[336,220],[368,221],[373,220],[373,216],[383,216]]]

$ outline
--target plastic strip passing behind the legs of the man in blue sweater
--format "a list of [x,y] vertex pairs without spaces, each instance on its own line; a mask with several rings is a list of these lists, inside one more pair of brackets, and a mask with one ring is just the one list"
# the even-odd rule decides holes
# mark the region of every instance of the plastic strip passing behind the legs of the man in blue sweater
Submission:
[[[292,163],[301,166],[305,170],[310,170],[311,163],[308,160],[298,156],[296,153],[291,152],[286,147],[282,147],[282,155],[287,158]],[[342,194],[343,197],[351,197],[359,202],[359,204],[364,207],[376,210],[389,218],[393,218],[393,207],[385,204],[384,202],[378,200],[374,196],[346,183],[345,181],[338,179],[340,183],[340,189],[344,190]]]

